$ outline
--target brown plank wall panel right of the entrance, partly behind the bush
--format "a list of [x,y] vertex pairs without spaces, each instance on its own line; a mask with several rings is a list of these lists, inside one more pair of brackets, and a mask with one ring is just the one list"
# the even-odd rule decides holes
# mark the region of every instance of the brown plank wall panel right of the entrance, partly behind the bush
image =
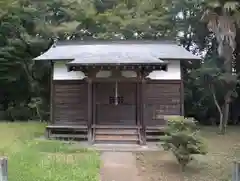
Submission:
[[165,125],[164,115],[181,115],[181,81],[148,81],[144,103],[146,127]]

